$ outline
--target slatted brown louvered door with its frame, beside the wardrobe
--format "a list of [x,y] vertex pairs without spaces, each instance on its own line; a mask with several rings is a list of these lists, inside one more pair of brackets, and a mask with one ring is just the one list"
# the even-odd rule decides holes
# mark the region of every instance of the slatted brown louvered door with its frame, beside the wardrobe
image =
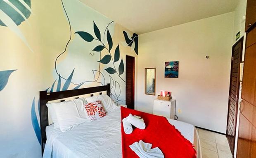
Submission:
[[244,37],[239,39],[239,41],[237,41],[237,43],[232,47],[226,137],[228,138],[228,144],[233,155],[235,149],[237,107],[239,96],[239,66],[240,62],[242,61],[243,39]]

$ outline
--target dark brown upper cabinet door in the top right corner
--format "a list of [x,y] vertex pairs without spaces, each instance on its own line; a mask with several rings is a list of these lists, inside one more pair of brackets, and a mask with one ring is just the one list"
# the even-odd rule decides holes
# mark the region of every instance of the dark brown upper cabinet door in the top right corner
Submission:
[[245,30],[256,22],[256,0],[247,0]]

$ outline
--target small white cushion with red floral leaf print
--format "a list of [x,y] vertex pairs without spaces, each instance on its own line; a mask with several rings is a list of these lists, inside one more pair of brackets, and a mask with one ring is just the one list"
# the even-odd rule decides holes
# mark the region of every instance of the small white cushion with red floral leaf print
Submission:
[[106,116],[106,112],[104,110],[104,107],[102,106],[101,101],[91,102],[88,104],[84,104],[83,106],[87,112],[90,121]]

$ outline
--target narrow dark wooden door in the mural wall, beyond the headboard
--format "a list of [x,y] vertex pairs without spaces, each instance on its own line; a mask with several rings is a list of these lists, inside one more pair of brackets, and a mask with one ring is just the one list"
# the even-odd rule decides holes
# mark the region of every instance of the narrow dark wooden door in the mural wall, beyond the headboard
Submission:
[[126,105],[134,109],[135,58],[126,55]]

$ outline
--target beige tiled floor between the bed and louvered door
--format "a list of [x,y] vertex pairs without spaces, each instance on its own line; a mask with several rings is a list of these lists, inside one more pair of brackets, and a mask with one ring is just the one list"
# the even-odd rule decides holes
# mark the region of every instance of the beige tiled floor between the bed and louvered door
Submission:
[[197,128],[203,158],[232,158],[225,135]]

